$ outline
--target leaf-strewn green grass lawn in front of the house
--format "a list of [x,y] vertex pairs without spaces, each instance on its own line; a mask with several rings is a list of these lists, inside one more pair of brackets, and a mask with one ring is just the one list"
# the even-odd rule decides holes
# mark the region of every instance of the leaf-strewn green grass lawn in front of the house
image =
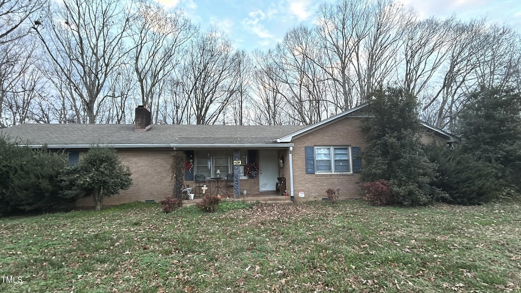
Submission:
[[0,292],[521,292],[520,203],[239,207],[0,219]]

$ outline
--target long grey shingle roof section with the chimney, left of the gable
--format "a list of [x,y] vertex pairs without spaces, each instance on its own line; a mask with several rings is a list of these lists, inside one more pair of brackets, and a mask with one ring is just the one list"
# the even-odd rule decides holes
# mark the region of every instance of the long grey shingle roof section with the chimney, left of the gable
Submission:
[[123,124],[22,124],[1,129],[22,144],[252,144],[274,140],[305,126],[152,125],[134,132]]

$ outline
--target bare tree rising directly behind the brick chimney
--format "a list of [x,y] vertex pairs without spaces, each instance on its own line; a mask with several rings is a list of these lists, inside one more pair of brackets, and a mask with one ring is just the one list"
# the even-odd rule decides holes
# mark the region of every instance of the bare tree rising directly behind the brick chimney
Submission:
[[[140,88],[141,103],[158,119],[157,105],[166,87],[167,77],[180,63],[181,46],[196,32],[181,10],[169,13],[154,1],[140,2],[134,42],[134,68]],[[154,104],[156,103],[156,104]]]

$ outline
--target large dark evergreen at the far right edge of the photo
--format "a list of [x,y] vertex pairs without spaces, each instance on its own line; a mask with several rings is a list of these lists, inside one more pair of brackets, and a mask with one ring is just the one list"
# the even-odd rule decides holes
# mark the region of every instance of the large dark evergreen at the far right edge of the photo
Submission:
[[456,124],[462,152],[495,169],[483,180],[493,175],[505,191],[521,193],[521,93],[480,87],[465,98]]

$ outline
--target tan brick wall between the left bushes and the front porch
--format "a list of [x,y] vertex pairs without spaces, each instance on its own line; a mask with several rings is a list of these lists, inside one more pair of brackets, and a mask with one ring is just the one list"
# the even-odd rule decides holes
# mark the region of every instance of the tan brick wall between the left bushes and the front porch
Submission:
[[[132,186],[119,194],[105,198],[104,205],[133,201],[163,200],[172,195],[170,173],[171,151],[156,149],[118,150],[123,164],[130,167]],[[81,198],[77,206],[93,206],[91,197]]]

